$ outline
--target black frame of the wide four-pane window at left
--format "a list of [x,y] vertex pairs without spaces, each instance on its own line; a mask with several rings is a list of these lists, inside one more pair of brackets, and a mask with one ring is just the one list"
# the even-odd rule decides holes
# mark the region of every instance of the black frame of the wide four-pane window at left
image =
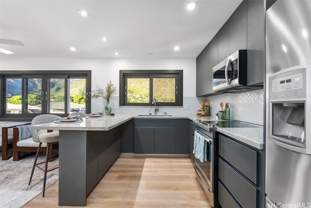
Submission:
[[[6,78],[21,78],[22,79],[22,113],[21,114],[8,114],[6,113]],[[91,112],[91,70],[3,70],[0,71],[0,119],[1,121],[31,121],[35,116],[45,114],[42,113],[25,113],[25,79],[27,78],[86,78],[86,113]],[[48,81],[49,82],[49,81]],[[68,82],[66,85],[68,86]],[[67,89],[65,89],[67,91]],[[68,101],[67,101],[68,103]],[[65,108],[68,104],[65,103]],[[44,107],[44,106],[42,106]],[[47,106],[45,106],[47,107]],[[67,108],[66,108],[67,109]],[[66,111],[65,111],[66,112]],[[68,112],[69,113],[69,112]],[[67,116],[68,114],[55,114],[58,116]]]

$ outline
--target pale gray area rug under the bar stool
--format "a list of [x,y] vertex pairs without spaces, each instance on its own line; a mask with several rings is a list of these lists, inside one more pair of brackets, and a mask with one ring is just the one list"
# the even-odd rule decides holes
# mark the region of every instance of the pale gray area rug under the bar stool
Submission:
[[[0,208],[21,208],[42,192],[44,172],[35,168],[31,184],[28,186],[35,156],[13,161],[0,160]],[[39,155],[38,161],[44,161]],[[58,159],[49,162],[49,169],[58,165]],[[42,166],[41,166],[42,165]],[[44,169],[44,163],[40,167]],[[58,181],[58,169],[47,173],[46,189]]]

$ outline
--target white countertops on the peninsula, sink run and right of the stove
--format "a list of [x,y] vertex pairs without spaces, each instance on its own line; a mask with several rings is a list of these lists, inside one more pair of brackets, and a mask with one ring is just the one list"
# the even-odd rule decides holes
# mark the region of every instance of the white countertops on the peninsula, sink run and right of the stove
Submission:
[[[84,117],[82,122],[64,122],[64,123],[44,123],[33,125],[33,129],[51,129],[51,130],[76,130],[76,131],[108,131],[116,126],[125,123],[131,119],[189,119],[199,123],[201,121],[217,121],[215,116],[137,116],[137,115],[116,115],[116,116],[103,116],[103,117]],[[263,128],[217,128],[229,137],[249,144],[257,149],[263,149]]]

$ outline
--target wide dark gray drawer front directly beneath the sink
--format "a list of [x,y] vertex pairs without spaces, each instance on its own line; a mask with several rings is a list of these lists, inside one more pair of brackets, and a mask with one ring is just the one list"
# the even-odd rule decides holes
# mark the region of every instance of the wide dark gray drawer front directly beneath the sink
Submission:
[[135,119],[134,126],[175,127],[174,119]]

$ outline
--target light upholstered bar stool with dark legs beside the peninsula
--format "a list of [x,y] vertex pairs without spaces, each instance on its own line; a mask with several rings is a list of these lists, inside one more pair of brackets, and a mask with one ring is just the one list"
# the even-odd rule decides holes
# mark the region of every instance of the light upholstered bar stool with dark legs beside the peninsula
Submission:
[[[61,118],[61,117],[56,116],[56,115],[52,115],[52,114],[42,114],[42,115],[36,116],[31,121],[31,124],[32,125],[37,125],[37,124],[42,124],[42,123],[49,123],[49,122],[53,122],[56,118]],[[42,196],[44,197],[45,184],[46,184],[47,172],[48,172],[47,171],[48,162],[53,160],[53,159],[52,160],[48,159],[48,157],[49,157],[49,150],[50,150],[50,146],[52,145],[52,143],[58,141],[58,139],[59,139],[59,132],[58,131],[53,131],[53,132],[46,133],[46,130],[45,130],[44,133],[43,132],[44,132],[44,130],[32,129],[33,139],[34,139],[35,142],[39,142],[39,146],[38,146],[37,153],[35,155],[34,166],[33,166],[33,170],[32,170],[31,175],[30,175],[30,179],[29,179],[29,184],[28,185],[30,185],[31,179],[33,178],[35,167],[38,167],[40,170],[44,171],[43,194],[42,194]],[[38,159],[38,155],[39,155],[39,151],[40,151],[40,147],[41,147],[42,143],[47,143],[47,151],[46,151],[46,157],[45,157],[45,168],[44,168],[44,170],[41,169],[38,166],[39,164],[42,164],[44,162],[36,163],[37,159]],[[56,168],[58,168],[58,167],[56,167]],[[56,168],[53,168],[53,169],[51,169],[49,171],[52,171],[52,170],[54,170]]]

